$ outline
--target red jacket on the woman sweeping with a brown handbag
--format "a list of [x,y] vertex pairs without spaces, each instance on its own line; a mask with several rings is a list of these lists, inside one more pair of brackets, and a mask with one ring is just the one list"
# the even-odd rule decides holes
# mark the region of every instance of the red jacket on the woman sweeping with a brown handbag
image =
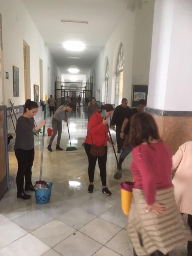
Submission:
[[97,146],[101,146],[104,143],[107,146],[107,141],[109,140],[108,128],[102,122],[103,118],[100,116],[99,111],[96,110],[89,119],[85,143],[90,145],[93,143]]

